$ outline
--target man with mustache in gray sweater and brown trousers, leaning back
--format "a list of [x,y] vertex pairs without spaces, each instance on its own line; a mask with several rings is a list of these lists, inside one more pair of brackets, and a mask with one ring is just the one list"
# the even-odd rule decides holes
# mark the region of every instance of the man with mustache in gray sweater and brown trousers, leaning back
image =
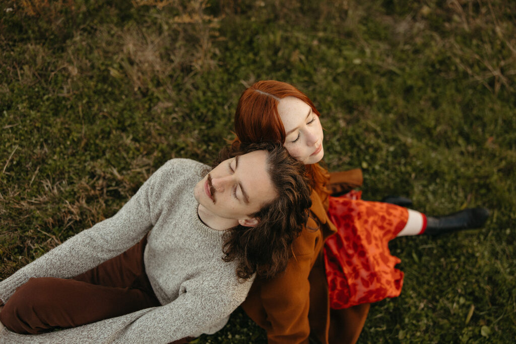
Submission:
[[115,216],[0,282],[0,342],[166,343],[220,330],[256,271],[284,269],[275,258],[291,254],[311,204],[302,164],[281,145],[221,160],[202,179],[201,163],[168,161]]

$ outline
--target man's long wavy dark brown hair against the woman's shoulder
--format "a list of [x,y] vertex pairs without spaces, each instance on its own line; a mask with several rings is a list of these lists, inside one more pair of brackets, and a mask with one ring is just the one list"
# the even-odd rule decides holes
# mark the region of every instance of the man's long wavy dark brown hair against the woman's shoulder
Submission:
[[262,142],[224,148],[213,167],[237,155],[265,150],[267,171],[278,196],[250,214],[259,220],[253,227],[237,225],[224,234],[225,261],[238,261],[237,275],[249,279],[254,273],[273,277],[285,270],[293,255],[292,244],[307,222],[311,185],[304,165],[279,143]]

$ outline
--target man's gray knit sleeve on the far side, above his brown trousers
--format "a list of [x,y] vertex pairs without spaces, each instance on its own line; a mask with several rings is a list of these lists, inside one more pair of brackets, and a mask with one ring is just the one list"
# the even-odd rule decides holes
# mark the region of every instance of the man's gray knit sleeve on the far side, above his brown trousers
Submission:
[[162,168],[145,182],[138,192],[109,219],[69,238],[53,250],[0,282],[3,302],[30,277],[71,278],[121,254],[138,242],[151,228],[159,207],[153,207],[162,179]]

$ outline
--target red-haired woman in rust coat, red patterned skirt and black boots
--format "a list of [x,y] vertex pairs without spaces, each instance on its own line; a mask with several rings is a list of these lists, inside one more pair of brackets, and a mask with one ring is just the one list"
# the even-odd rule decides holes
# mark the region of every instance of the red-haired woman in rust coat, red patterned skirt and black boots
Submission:
[[282,142],[305,163],[314,184],[311,218],[294,243],[295,258],[284,273],[258,279],[243,304],[267,331],[269,343],[308,343],[309,337],[322,343],[355,342],[369,304],[401,291],[403,273],[394,268],[400,259],[390,255],[389,240],[476,228],[487,220],[483,208],[436,218],[362,201],[356,191],[330,196],[329,174],[318,164],[324,156],[319,112],[292,85],[268,80],[245,90],[235,113],[235,132],[236,145],[262,139]]

